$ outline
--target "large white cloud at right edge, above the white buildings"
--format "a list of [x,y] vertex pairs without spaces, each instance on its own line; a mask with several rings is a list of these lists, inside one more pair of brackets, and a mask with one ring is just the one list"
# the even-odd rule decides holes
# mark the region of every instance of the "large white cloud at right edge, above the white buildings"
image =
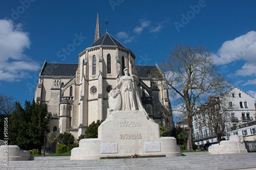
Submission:
[[217,54],[213,54],[218,65],[237,60],[256,63],[256,32],[250,31],[233,40],[225,41]]

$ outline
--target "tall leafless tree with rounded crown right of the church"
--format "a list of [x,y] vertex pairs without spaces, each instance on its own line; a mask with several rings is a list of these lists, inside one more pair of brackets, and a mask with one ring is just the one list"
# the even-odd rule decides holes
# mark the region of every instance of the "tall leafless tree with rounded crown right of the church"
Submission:
[[[193,149],[192,116],[205,96],[219,93],[227,87],[224,75],[219,74],[211,53],[202,45],[191,46],[177,43],[168,58],[160,64],[162,78],[170,89],[170,97],[182,105],[188,119],[187,148]],[[159,76],[159,75],[157,75]]]

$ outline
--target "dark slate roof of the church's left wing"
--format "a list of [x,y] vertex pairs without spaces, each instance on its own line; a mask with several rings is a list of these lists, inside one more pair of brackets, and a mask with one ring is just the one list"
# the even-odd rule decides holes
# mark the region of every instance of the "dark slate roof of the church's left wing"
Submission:
[[70,63],[45,63],[40,76],[67,76],[76,75],[78,64]]

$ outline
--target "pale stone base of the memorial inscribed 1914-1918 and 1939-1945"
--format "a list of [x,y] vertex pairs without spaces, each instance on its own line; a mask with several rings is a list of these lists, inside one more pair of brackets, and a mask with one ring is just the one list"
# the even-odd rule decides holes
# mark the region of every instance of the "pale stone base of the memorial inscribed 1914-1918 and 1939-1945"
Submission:
[[107,156],[181,156],[174,137],[160,137],[159,125],[144,111],[113,111],[98,128],[98,138],[81,139],[71,151],[72,160]]

